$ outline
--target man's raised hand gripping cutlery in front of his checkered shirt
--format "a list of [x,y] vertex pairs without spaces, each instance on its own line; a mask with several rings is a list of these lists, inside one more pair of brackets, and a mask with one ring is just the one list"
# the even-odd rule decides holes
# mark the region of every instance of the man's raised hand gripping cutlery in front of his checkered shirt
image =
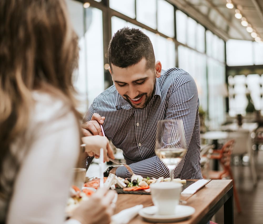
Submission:
[[84,136],[92,136],[92,135],[103,136],[102,130],[100,128],[100,124],[103,124],[104,120],[105,120],[105,117],[102,117],[99,114],[94,113],[90,121],[87,121],[81,125],[82,134]]

